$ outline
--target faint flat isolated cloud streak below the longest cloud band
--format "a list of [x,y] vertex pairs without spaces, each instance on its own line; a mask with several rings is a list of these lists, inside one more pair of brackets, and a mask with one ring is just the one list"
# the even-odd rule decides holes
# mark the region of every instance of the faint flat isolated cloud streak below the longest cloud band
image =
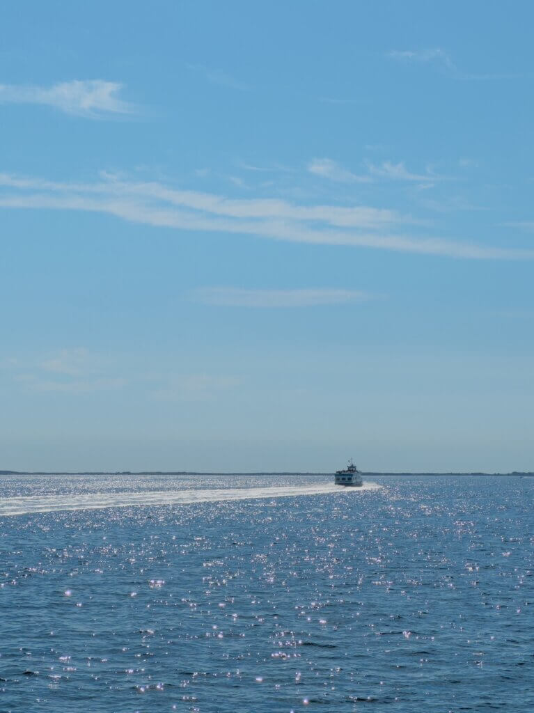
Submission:
[[242,289],[202,287],[193,299],[217,307],[317,307],[324,304],[366,302],[374,295],[355,289]]

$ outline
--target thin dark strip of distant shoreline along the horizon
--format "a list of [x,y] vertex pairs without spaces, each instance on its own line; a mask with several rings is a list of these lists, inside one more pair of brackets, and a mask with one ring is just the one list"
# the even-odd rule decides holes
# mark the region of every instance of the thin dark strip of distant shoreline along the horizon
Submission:
[[[197,471],[0,471],[0,476],[331,476],[332,473],[304,473],[304,472],[289,472],[289,471],[262,471],[257,473],[240,472],[197,472]],[[362,476],[366,477],[381,477],[381,476],[501,476],[501,477],[518,477],[531,476],[534,473],[528,471],[513,471],[511,473],[365,473],[362,471]]]

